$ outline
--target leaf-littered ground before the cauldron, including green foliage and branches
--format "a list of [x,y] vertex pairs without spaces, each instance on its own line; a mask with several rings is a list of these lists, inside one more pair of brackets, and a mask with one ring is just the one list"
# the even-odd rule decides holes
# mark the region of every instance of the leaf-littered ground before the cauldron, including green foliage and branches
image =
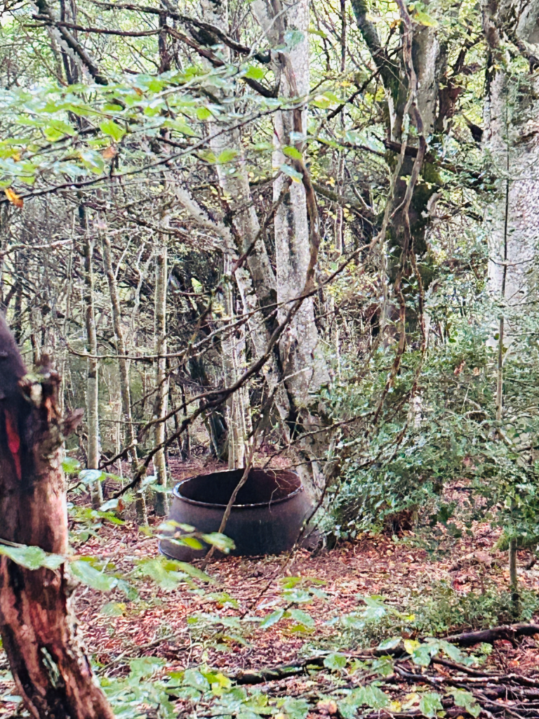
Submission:
[[[364,536],[314,554],[214,559],[211,582],[176,573],[167,585],[148,565],[162,566],[155,536],[103,521],[74,549],[134,592],[80,585],[78,630],[105,684],[168,682],[170,705],[148,695],[133,717],[539,717],[539,634],[459,649],[429,639],[410,613],[439,586],[453,597],[504,590],[498,539],[488,523],[435,551],[412,531]],[[520,552],[520,567],[528,557]],[[537,594],[536,569],[519,581]],[[7,669],[4,655],[0,715],[22,716]]]

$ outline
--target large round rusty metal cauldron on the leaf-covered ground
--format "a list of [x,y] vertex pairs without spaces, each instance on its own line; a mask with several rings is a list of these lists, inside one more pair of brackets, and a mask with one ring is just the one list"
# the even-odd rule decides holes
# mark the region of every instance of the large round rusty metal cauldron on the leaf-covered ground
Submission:
[[[169,521],[190,524],[203,533],[218,531],[226,505],[243,472],[213,472],[179,482],[172,490]],[[250,470],[224,530],[236,545],[231,554],[254,557],[291,549],[310,510],[310,501],[295,472]],[[190,562],[204,557],[208,546],[191,549],[162,539],[160,550],[167,557]],[[218,551],[215,555],[223,556]]]

